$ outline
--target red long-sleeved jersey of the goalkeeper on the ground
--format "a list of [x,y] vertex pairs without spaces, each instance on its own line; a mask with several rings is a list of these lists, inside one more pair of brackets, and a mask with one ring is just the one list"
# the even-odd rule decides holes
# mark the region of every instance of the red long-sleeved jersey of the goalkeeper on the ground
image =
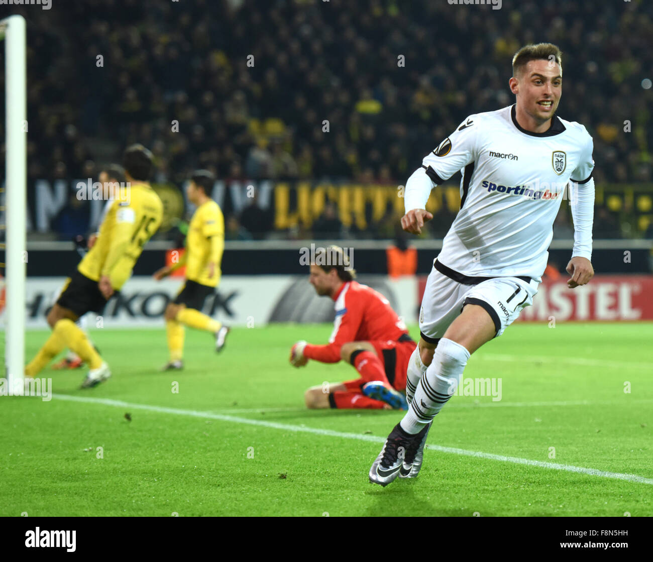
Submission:
[[336,319],[327,345],[306,345],[304,356],[323,363],[340,361],[340,347],[349,341],[394,340],[408,334],[404,321],[381,293],[348,281],[336,294]]

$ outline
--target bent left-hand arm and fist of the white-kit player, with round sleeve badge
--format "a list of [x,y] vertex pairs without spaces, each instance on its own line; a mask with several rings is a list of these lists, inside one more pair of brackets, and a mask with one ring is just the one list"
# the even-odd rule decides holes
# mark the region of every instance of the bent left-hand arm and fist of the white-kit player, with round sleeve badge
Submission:
[[422,226],[433,215],[426,211],[426,202],[431,190],[438,184],[449,180],[453,174],[476,159],[476,132],[478,116],[467,117],[438,148],[427,155],[421,168],[406,181],[402,228],[411,234],[421,234]]

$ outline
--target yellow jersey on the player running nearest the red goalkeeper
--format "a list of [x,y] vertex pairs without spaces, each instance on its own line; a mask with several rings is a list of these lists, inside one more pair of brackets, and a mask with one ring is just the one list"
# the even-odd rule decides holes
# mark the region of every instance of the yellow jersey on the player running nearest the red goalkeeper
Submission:
[[[225,218],[218,204],[208,200],[200,205],[188,226],[186,237],[186,279],[207,287],[220,281],[220,263],[225,248]],[[208,265],[214,262],[210,275]]]

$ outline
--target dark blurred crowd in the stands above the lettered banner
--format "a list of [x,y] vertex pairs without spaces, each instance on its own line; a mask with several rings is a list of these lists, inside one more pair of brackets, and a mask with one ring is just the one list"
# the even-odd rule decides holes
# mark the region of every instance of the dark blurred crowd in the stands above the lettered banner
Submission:
[[[512,55],[547,40],[563,52],[558,114],[594,136],[597,184],[650,182],[652,11],[553,0],[501,10],[400,0],[22,7],[29,178],[96,177],[142,142],[153,179],[176,185],[195,168],[227,180],[403,184],[468,114],[511,104]],[[332,211],[322,232],[339,222]],[[234,236],[261,234],[227,219]]]

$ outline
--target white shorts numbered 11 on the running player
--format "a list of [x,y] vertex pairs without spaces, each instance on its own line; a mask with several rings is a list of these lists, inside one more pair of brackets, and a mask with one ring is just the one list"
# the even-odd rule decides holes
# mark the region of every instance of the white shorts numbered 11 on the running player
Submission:
[[424,341],[438,343],[466,304],[485,308],[494,322],[496,336],[501,336],[522,309],[533,304],[537,285],[537,281],[526,277],[468,277],[436,260],[419,311],[421,336]]

